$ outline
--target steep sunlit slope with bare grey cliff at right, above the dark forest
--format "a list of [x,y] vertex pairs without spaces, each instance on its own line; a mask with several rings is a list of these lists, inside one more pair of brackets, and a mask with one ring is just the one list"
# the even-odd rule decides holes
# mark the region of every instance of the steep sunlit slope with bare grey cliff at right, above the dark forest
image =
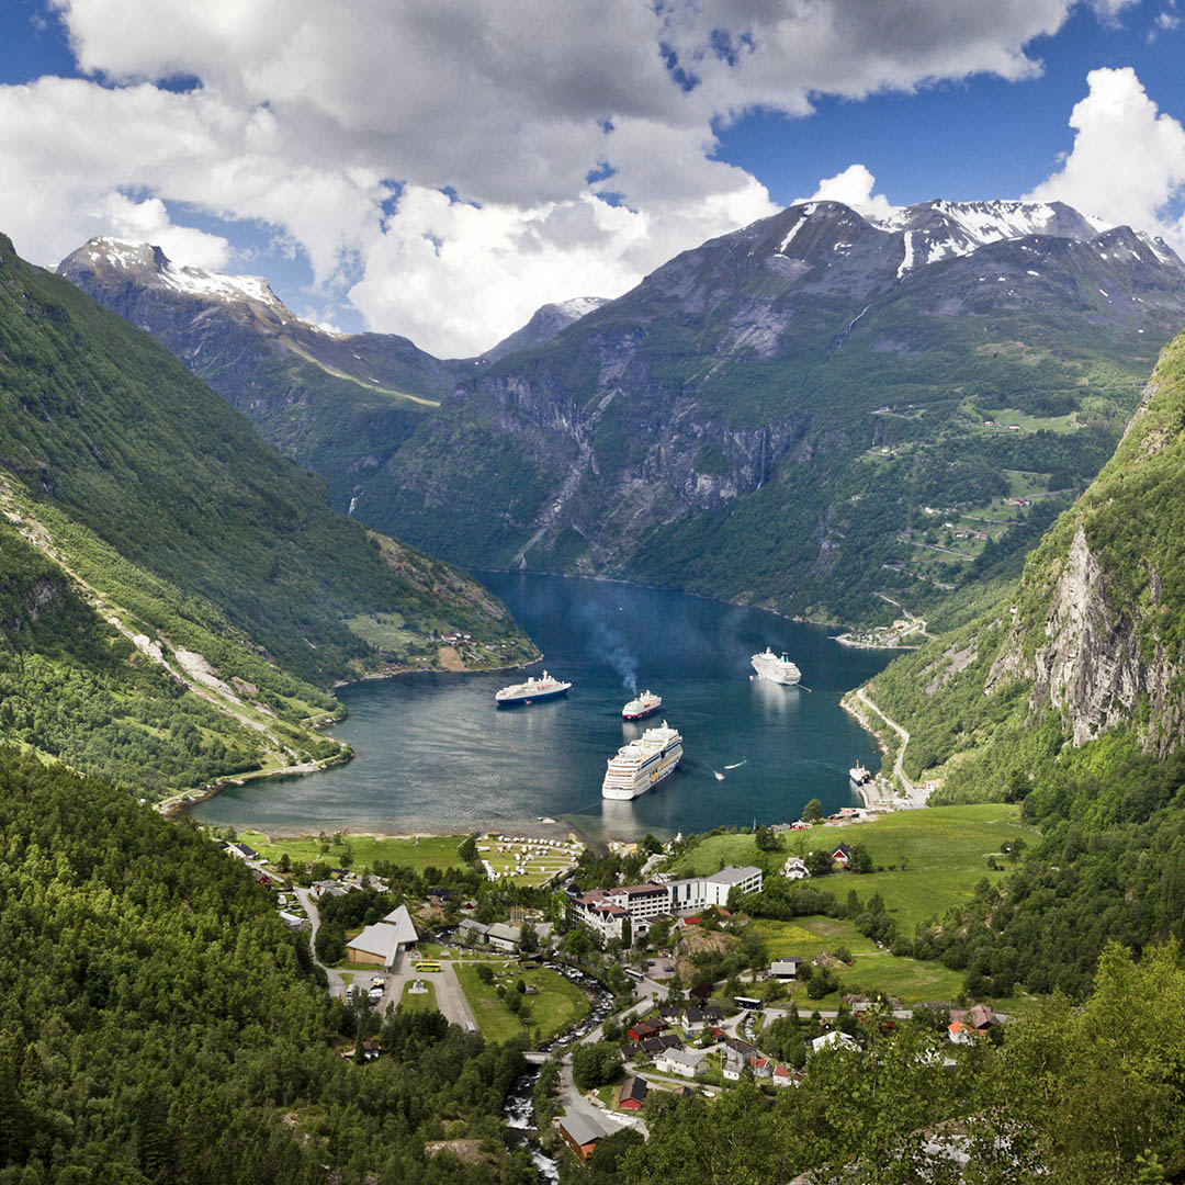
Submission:
[[1023,578],[872,680],[912,734],[908,773],[947,774],[947,798],[1019,794],[1037,764],[1098,738],[1157,757],[1185,743],[1183,472],[1185,334]]

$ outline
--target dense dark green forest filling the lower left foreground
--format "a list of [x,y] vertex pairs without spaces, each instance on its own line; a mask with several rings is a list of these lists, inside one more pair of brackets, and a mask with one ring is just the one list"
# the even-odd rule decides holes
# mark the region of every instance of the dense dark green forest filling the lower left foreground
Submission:
[[517,1051],[357,1017],[251,872],[118,790],[0,751],[0,1183],[529,1180],[494,1135]]

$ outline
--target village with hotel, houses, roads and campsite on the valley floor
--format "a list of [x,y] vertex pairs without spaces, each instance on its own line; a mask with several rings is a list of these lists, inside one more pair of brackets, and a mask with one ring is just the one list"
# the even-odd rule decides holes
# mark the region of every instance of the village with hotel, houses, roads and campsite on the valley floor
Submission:
[[[344,1057],[380,1057],[379,1021],[392,1012],[435,1010],[489,1040],[515,1040],[530,1062],[553,1064],[551,1130],[583,1160],[615,1132],[645,1138],[649,1108],[671,1091],[794,1087],[813,1058],[859,1056],[902,1023],[933,1032],[937,1065],[992,1035],[1005,1016],[966,1000],[944,968],[896,957],[840,918],[766,916],[776,912],[768,895],[794,884],[835,892],[908,875],[908,857],[886,870],[848,838],[866,828],[844,830],[877,819],[847,807],[755,832],[615,844],[602,857],[571,837],[491,832],[461,839],[463,875],[425,867],[440,883],[417,877],[418,893],[403,873],[320,866],[327,876],[302,878],[282,856],[219,843],[276,892],[329,992],[359,1010],[359,1044]],[[725,863],[728,852],[761,865]],[[634,870],[635,879],[622,876]],[[326,927],[346,910],[363,924],[332,947]]]

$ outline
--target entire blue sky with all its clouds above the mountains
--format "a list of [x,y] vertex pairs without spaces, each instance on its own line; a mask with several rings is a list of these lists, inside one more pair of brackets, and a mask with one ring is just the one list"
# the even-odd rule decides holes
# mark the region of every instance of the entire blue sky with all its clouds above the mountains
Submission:
[[1185,0],[2,0],[0,231],[472,357],[795,200],[1185,252]]

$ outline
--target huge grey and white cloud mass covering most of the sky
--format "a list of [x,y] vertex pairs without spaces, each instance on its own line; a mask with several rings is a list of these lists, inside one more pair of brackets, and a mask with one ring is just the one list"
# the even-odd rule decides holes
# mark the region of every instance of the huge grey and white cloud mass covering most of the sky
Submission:
[[[90,233],[142,233],[210,263],[225,242],[182,233],[177,209],[250,219],[305,254],[326,315],[348,294],[373,328],[453,356],[771,213],[752,175],[715,159],[717,121],[1027,78],[1026,45],[1072,7],[51,2],[90,77],[0,88],[0,225],[21,250],[53,263]],[[160,85],[182,76],[199,85]],[[831,181],[885,200],[852,169]]]

